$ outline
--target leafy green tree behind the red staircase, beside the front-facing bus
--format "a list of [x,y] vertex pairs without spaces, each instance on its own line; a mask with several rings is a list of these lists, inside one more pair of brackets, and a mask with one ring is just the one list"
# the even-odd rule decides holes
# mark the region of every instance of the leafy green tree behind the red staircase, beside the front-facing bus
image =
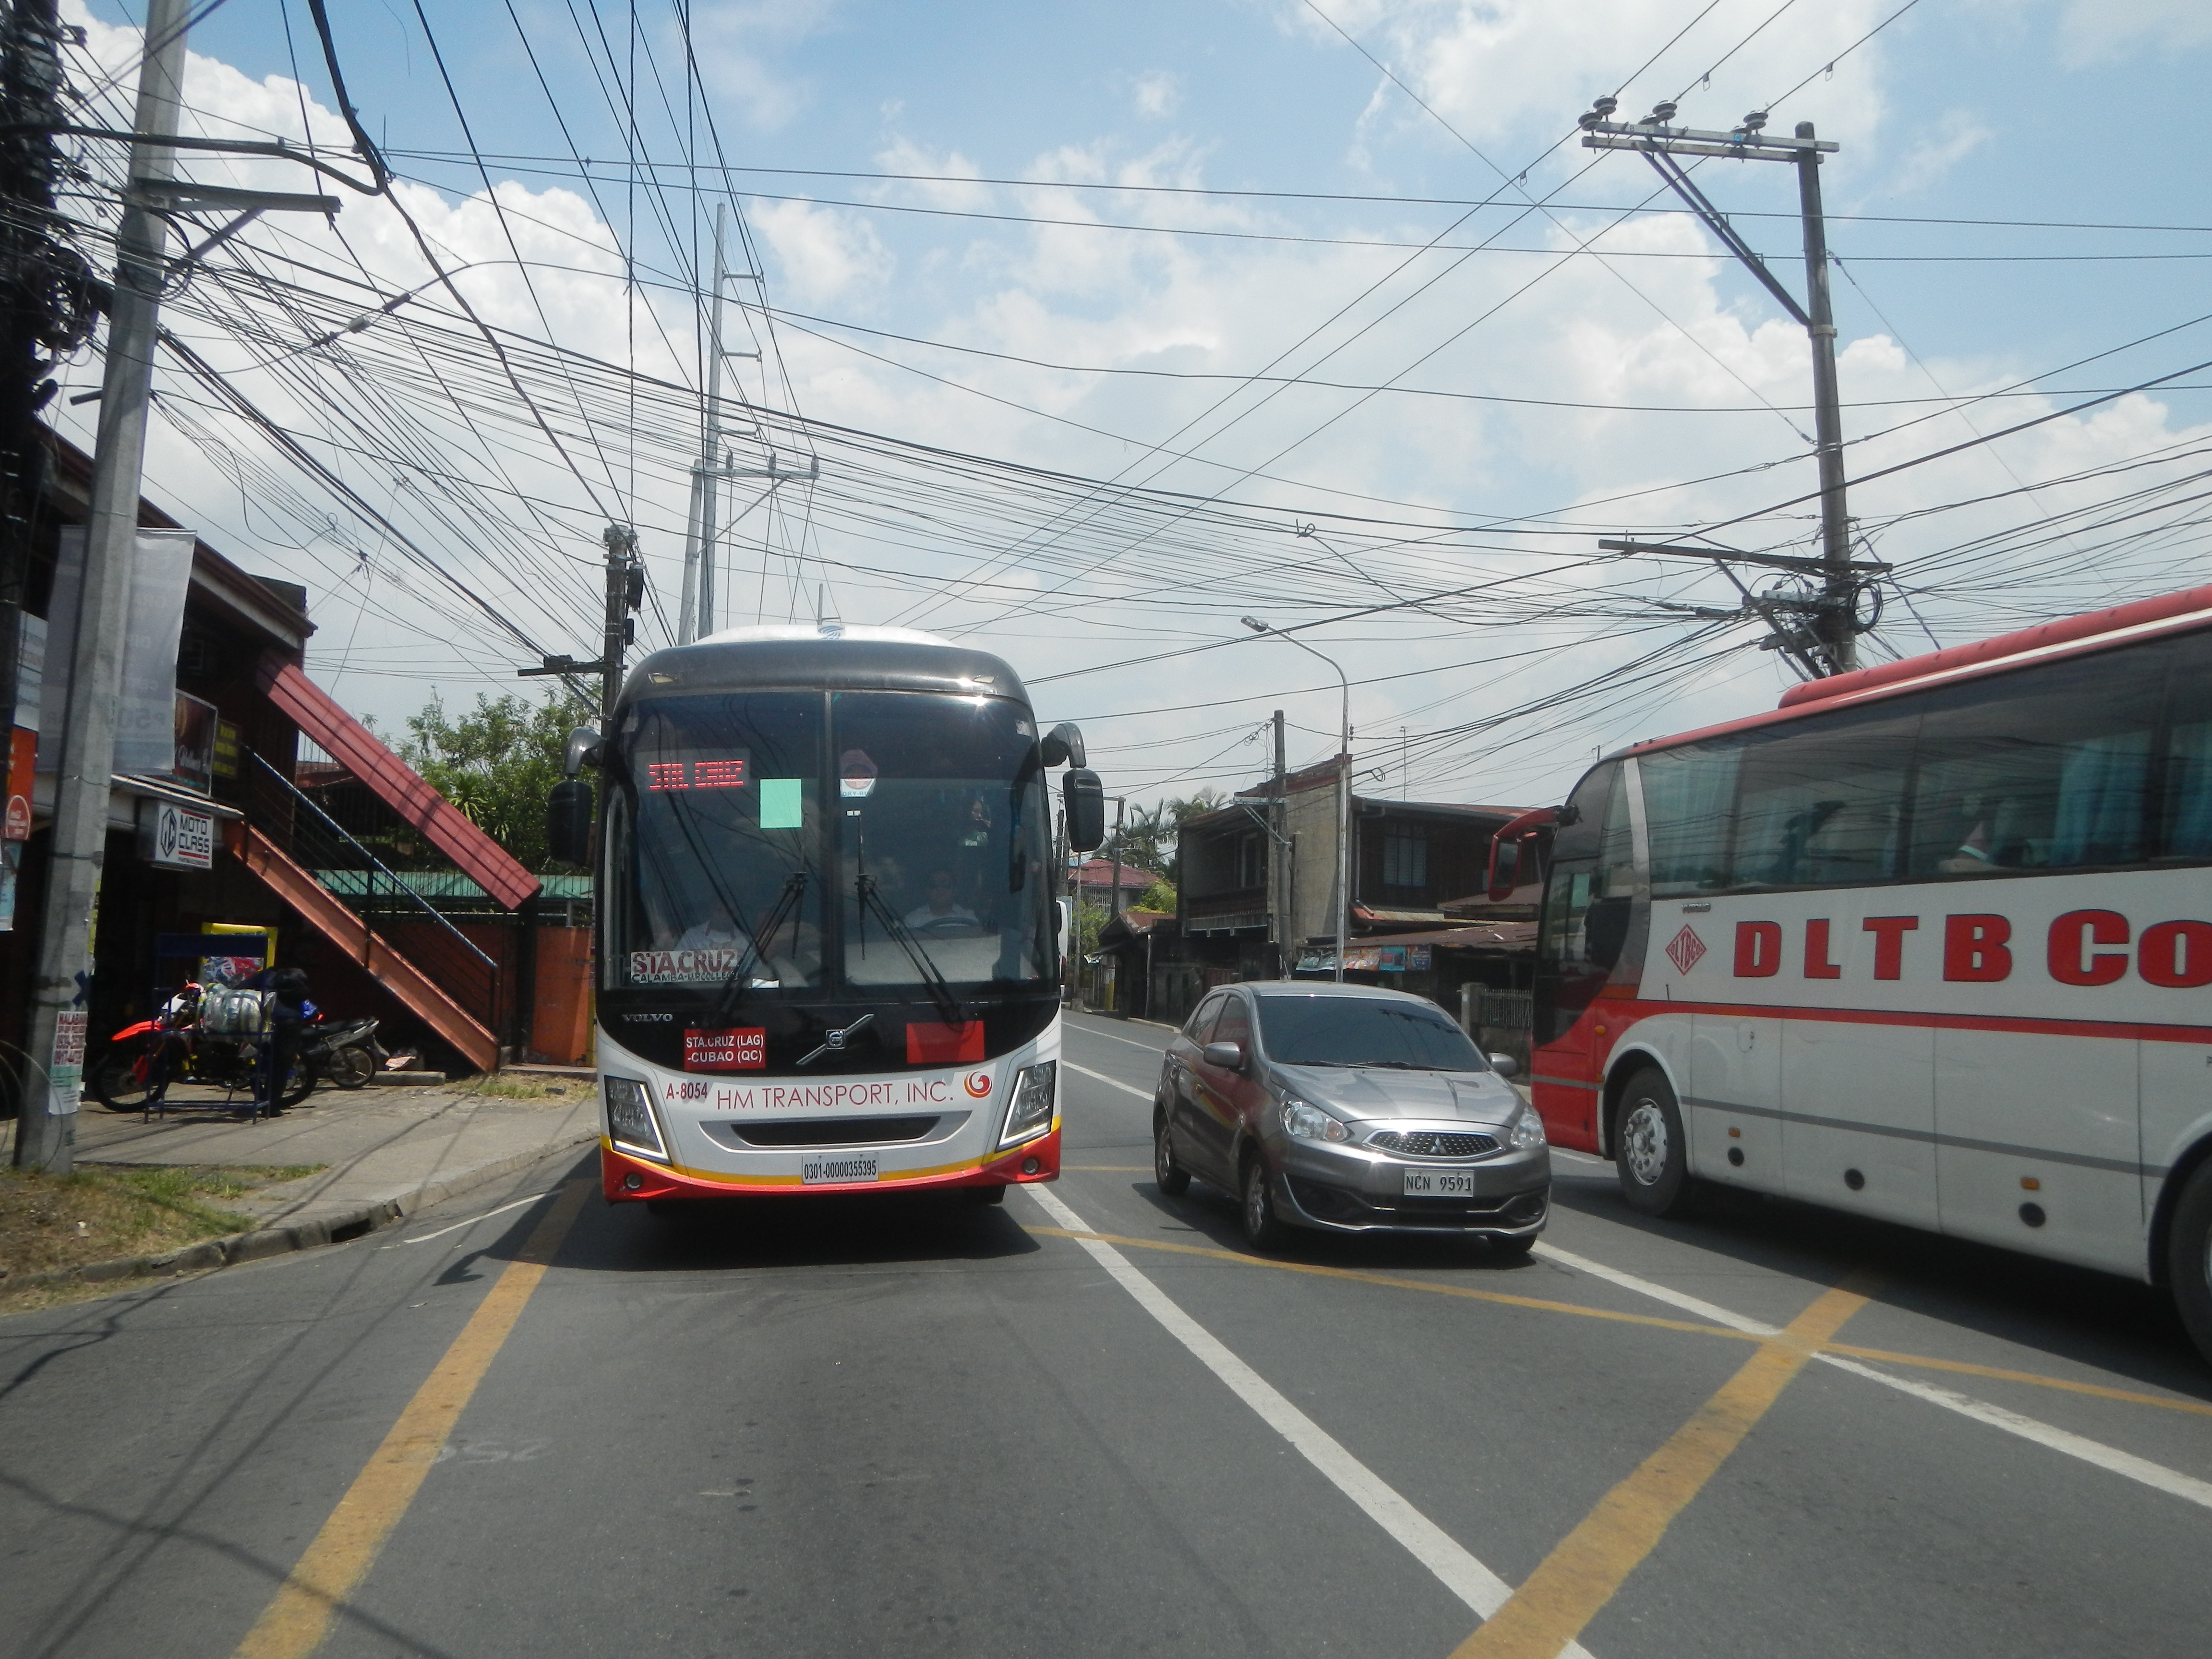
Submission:
[[476,708],[456,719],[431,697],[407,717],[407,737],[394,748],[524,869],[542,874],[551,869],[546,796],[560,783],[568,732],[593,717],[591,703],[575,697],[533,703],[478,692]]

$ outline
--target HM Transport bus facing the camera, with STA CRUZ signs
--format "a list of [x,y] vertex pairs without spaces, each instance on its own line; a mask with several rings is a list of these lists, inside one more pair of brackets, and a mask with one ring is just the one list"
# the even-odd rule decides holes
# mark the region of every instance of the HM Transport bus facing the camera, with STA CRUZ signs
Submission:
[[[602,1186],[684,1199],[1060,1172],[1060,911],[1104,799],[998,657],[898,628],[730,628],[646,657],[568,743],[597,854]],[[593,790],[604,812],[593,849]]]

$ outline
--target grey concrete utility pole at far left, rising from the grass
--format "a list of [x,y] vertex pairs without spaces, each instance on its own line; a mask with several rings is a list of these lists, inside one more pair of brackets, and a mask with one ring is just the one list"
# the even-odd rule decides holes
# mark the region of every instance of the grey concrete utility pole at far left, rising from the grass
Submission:
[[[122,692],[124,617],[137,557],[139,480],[146,469],[146,405],[153,398],[155,314],[166,276],[168,232],[144,184],[166,184],[184,95],[184,27],[190,0],[150,0],[131,146],[131,188],[115,234],[115,299],[93,449],[91,524],[75,639],[69,653],[69,712],[53,781],[53,849],[40,914],[38,978],[31,987],[29,1055],[46,1086],[27,1079],[15,1117],[18,1168],[66,1175],[75,1164],[77,1097],[84,1093],[84,1033],[91,1020],[93,933],[100,867],[108,845],[115,772],[115,703]],[[42,719],[46,714],[42,712]]]

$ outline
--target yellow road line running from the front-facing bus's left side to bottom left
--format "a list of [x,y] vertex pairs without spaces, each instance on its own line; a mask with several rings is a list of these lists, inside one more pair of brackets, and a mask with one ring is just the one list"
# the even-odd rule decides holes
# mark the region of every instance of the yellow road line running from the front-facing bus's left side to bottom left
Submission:
[[323,1522],[299,1566],[279,1586],[261,1619],[246,1632],[237,1659],[307,1659],[330,1630],[330,1619],[354,1593],[376,1553],[414,1502],[422,1475],[453,1436],[476,1385],[484,1380],[507,1334],[522,1316],[522,1305],[544,1279],[546,1263],[560,1250],[577,1210],[595,1179],[571,1181],[553,1199],[553,1208],[531,1230],[529,1243],[507,1263],[507,1270],[484,1292],[460,1336],[438,1360],[416,1396],[392,1425],[392,1433],[347,1486],[345,1498]]

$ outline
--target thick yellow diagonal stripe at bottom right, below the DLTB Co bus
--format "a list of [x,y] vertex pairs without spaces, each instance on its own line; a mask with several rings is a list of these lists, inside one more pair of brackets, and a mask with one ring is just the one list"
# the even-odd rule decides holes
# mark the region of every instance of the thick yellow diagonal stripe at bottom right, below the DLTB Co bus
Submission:
[[1666,1528],[1712,1480],[1743,1436],[1843,1323],[1867,1305],[1865,1290],[1823,1292],[1778,1336],[1770,1336],[1697,1416],[1619,1486],[1597,1500],[1513,1599],[1462,1641],[1451,1659],[1557,1659],[1613,1599]]

